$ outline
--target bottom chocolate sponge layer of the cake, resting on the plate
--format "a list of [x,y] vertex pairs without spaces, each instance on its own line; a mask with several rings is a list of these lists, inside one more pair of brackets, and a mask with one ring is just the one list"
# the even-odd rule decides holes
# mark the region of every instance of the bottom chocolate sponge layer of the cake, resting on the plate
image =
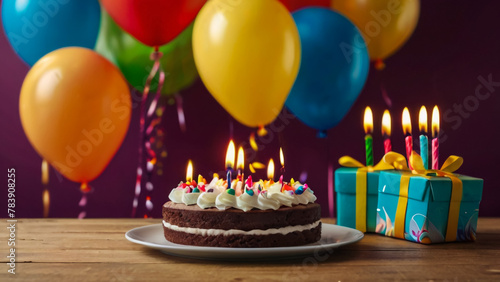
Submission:
[[170,242],[209,247],[266,248],[310,244],[321,238],[321,223],[313,229],[291,232],[286,235],[195,235],[163,228],[165,238]]

